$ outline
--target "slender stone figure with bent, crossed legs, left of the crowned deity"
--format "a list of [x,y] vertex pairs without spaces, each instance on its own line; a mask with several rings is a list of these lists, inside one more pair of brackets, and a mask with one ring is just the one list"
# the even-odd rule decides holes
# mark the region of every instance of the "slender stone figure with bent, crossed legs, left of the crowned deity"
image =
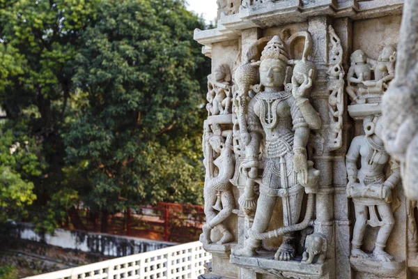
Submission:
[[[235,204],[229,182],[235,172],[235,155],[232,146],[232,131],[226,131],[225,141],[217,123],[212,124],[212,131],[213,133],[206,131],[206,144],[210,144],[211,149],[209,148],[205,155],[210,159],[210,153],[213,150],[218,156],[212,163],[210,160],[205,160],[206,173],[209,177],[206,179],[204,188],[206,225],[203,226],[202,241],[206,244],[212,243],[210,232],[216,227],[222,234],[222,239],[217,243],[225,244],[233,241],[233,234],[223,222],[231,215]],[[217,169],[212,169],[211,164]]]

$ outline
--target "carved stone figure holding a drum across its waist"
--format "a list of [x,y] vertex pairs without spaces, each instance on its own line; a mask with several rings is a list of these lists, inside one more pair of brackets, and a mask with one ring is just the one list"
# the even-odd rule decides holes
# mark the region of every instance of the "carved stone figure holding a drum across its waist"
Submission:
[[[394,227],[394,215],[390,206],[392,190],[399,183],[401,176],[398,164],[391,162],[392,174],[385,177],[385,168],[390,158],[383,145],[380,122],[378,116],[367,116],[363,124],[366,135],[359,135],[353,139],[346,156],[347,195],[353,198],[356,218],[351,255],[369,258],[369,255],[361,250],[366,225],[380,226],[372,257],[380,262],[392,262],[394,258],[384,249]],[[361,160],[360,169],[357,169],[358,159]]]

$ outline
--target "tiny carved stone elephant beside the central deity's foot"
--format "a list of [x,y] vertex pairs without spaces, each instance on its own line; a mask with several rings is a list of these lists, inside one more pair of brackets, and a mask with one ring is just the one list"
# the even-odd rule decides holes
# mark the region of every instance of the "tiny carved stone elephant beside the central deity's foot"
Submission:
[[323,264],[327,255],[327,239],[320,233],[309,234],[307,236],[302,262],[305,264],[312,264],[316,255],[319,255],[316,262],[318,264]]

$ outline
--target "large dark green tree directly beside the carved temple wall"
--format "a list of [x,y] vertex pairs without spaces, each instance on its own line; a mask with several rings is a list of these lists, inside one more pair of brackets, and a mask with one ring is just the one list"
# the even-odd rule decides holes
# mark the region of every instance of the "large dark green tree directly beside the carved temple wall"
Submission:
[[91,209],[202,202],[202,82],[208,61],[192,38],[202,20],[183,1],[104,0],[83,33],[74,81],[80,112],[65,134],[85,162]]

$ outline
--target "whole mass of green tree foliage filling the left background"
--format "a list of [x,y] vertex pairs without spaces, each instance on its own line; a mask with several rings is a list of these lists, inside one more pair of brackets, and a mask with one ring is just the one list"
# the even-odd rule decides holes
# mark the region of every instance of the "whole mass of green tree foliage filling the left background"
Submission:
[[181,0],[0,0],[0,224],[203,203],[195,28]]

